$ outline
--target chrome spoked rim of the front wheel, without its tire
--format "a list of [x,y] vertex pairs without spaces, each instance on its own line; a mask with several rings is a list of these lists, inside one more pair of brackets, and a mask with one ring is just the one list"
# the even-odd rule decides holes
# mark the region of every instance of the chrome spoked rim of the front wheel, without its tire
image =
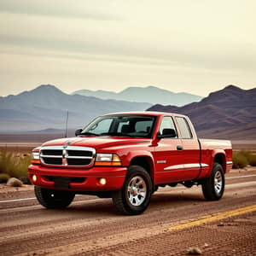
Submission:
[[127,187],[127,196],[132,206],[138,207],[145,201],[147,185],[141,176],[132,177]]

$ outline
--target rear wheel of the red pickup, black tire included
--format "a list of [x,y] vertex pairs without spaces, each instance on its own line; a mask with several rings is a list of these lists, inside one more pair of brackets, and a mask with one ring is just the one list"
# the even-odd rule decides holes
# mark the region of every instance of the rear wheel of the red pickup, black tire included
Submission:
[[207,201],[218,201],[224,194],[225,178],[221,165],[214,163],[211,176],[202,183],[202,192]]

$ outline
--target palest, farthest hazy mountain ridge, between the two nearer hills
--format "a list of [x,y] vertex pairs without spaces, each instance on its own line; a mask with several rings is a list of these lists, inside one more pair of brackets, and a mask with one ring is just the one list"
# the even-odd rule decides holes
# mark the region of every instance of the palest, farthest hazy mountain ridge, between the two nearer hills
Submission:
[[76,90],[73,95],[94,96],[100,99],[115,99],[128,102],[149,102],[152,104],[172,104],[183,106],[191,102],[199,102],[202,97],[180,92],[174,93],[170,90],[160,89],[155,86],[148,87],[128,87],[120,92],[108,90]]

